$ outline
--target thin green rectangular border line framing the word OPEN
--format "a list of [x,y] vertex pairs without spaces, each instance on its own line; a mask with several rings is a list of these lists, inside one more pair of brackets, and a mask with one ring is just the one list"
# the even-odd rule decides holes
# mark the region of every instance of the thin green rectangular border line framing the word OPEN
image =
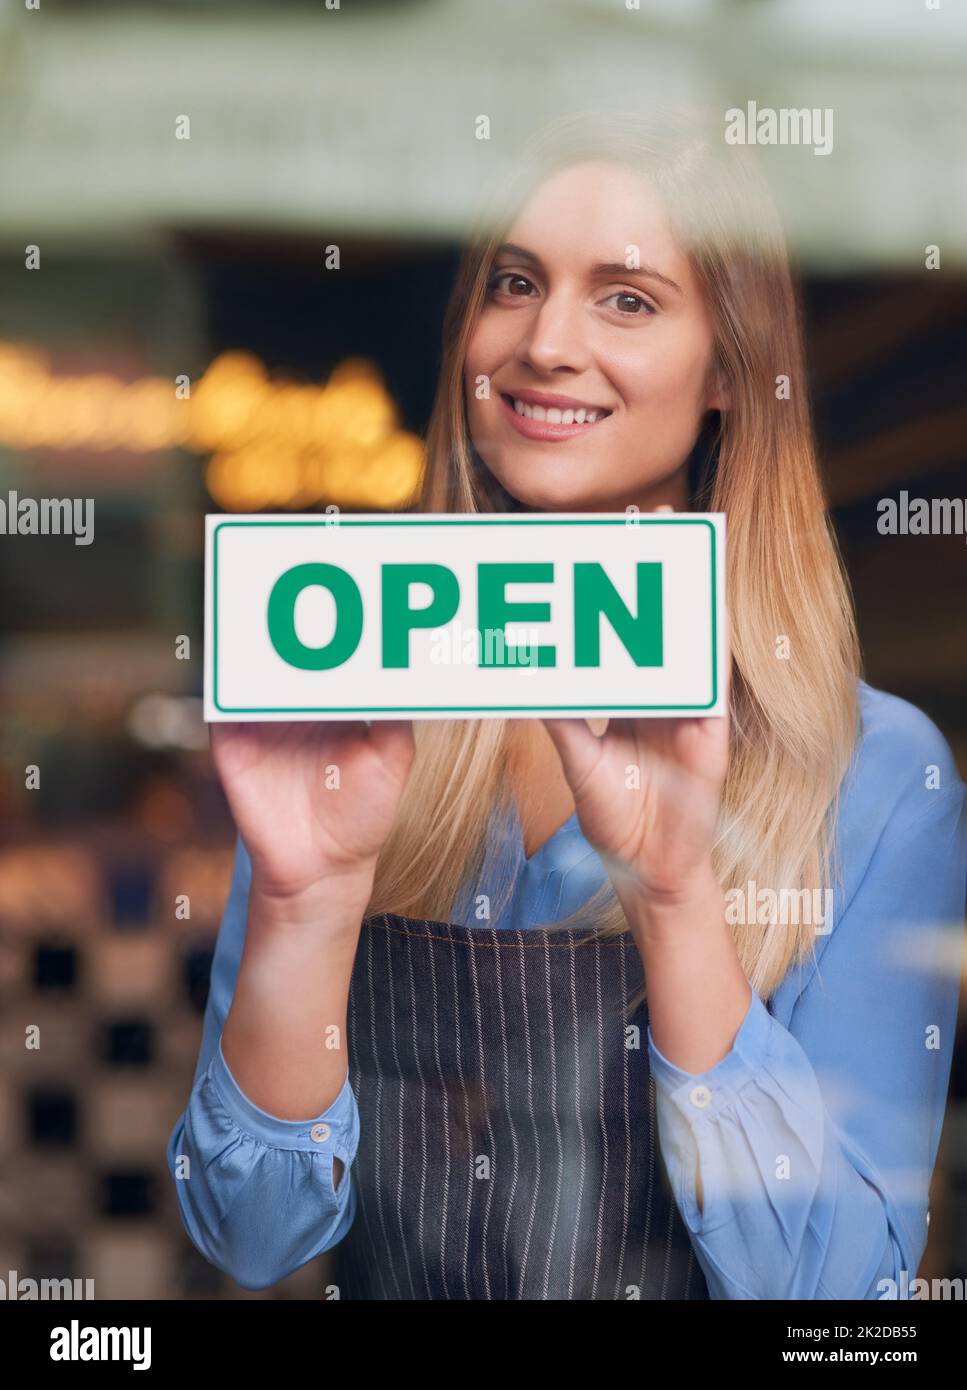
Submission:
[[[414,521],[403,520],[345,520],[336,521],[336,527],[347,525],[621,525],[628,527],[628,521],[621,517],[603,517],[596,520],[595,517],[521,517],[515,521],[507,520],[482,520],[479,517],[442,517],[439,521],[436,518],[421,518]],[[226,708],[218,703],[218,532],[226,527],[279,527],[279,525],[293,525],[293,527],[324,527],[333,528],[332,521],[220,521],[213,531],[213,566],[211,566],[211,581],[213,581],[213,662],[214,662],[214,678],[211,698],[217,710],[222,714],[420,714],[427,712],[435,713],[478,713],[478,714],[496,714],[503,710],[520,710],[527,713],[535,709],[553,709],[553,710],[568,710],[568,709],[667,709],[667,710],[702,710],[711,709],[718,698],[718,623],[717,623],[717,580],[716,580],[716,528],[711,521],[706,521],[703,517],[640,517],[635,525],[704,525],[709,527],[709,534],[711,539],[711,699],[707,705],[327,705],[327,706],[268,706],[268,708]]]

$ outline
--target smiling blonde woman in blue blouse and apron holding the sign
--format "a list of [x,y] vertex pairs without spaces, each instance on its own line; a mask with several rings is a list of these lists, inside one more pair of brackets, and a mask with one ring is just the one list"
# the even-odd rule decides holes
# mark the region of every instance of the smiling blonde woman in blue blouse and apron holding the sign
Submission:
[[729,719],[213,726],[240,838],[186,1227],[250,1289],[335,1247],[339,1297],[889,1297],[964,785],[859,678],[745,152],[559,122],[475,234],[418,510],[520,507],[728,514]]

